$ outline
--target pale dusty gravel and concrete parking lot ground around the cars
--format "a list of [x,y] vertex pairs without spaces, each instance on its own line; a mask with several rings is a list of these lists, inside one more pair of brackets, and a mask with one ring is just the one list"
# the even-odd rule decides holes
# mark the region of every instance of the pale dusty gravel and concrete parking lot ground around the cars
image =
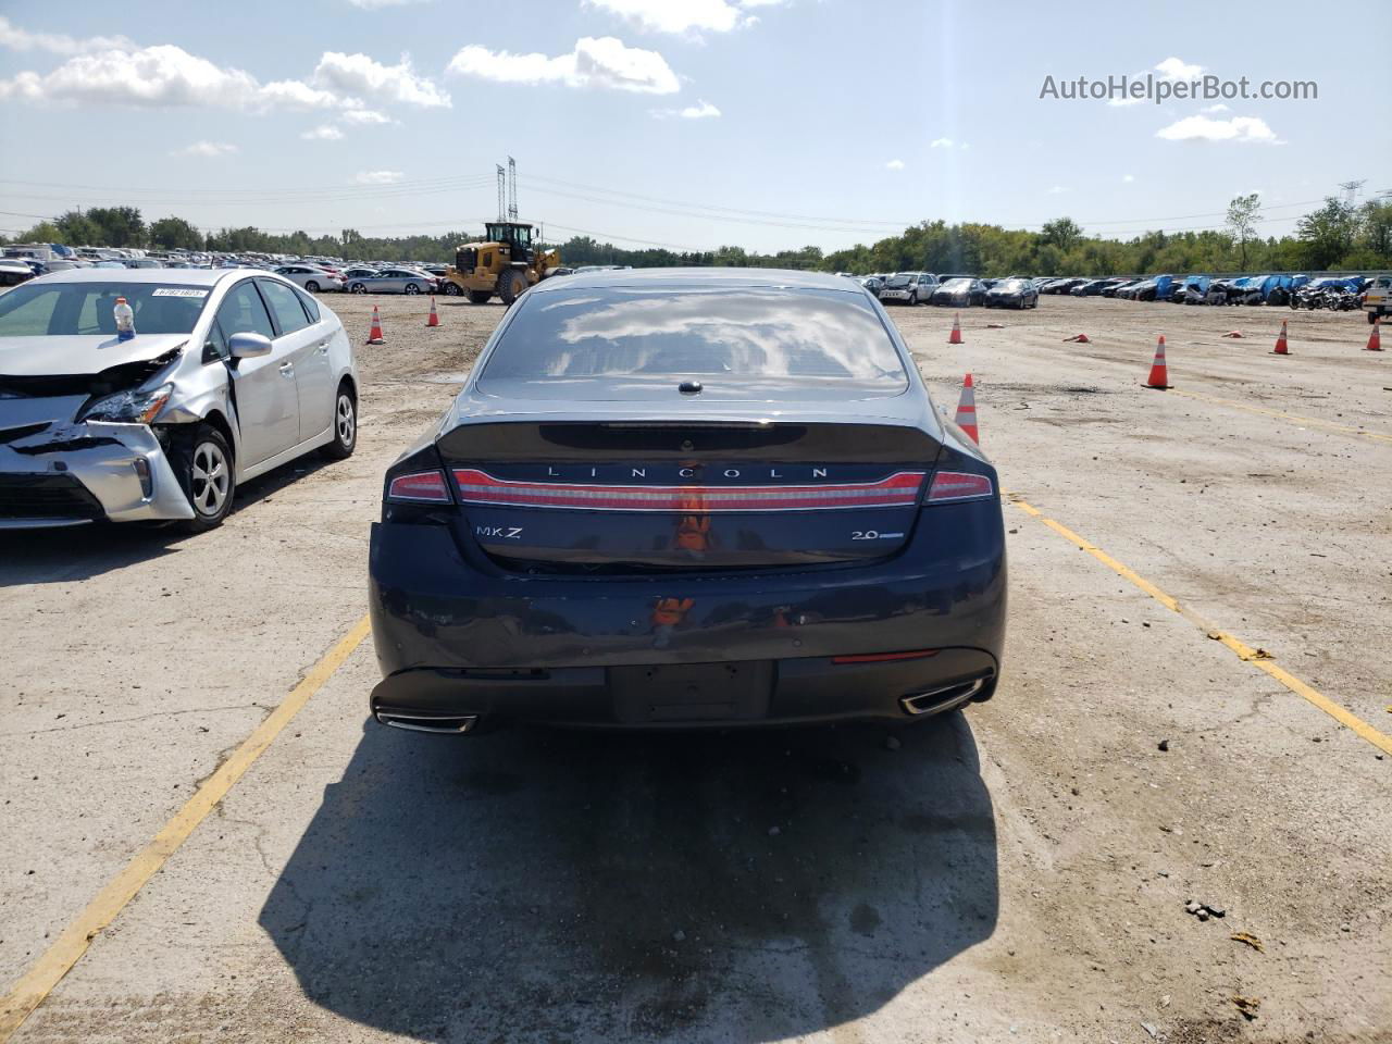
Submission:
[[[326,301],[362,345],[374,299]],[[363,615],[383,469],[503,308],[376,303],[351,459],[202,536],[0,537],[6,983],[312,693],[14,1040],[1392,1040],[1392,355],[1361,313],[1045,296],[949,345],[949,310],[895,309],[949,413],[972,372],[1015,501],[991,703],[447,741],[366,722],[370,642],[315,667]]]

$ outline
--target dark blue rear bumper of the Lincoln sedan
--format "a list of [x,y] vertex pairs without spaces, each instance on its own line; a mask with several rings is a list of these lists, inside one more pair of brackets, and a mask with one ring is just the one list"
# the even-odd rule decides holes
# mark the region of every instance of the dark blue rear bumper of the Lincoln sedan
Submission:
[[[374,715],[614,728],[903,720],[910,717],[905,696],[994,679],[1005,640],[998,501],[928,508],[903,551],[853,568],[523,576],[461,548],[445,526],[376,523],[369,572],[384,675],[372,693]],[[660,611],[674,600],[689,600],[675,621]],[[832,663],[928,649],[940,651]],[[657,721],[649,713],[635,720],[619,692],[628,668],[692,664],[767,671],[767,693],[728,713],[718,697],[703,696],[686,718]]]

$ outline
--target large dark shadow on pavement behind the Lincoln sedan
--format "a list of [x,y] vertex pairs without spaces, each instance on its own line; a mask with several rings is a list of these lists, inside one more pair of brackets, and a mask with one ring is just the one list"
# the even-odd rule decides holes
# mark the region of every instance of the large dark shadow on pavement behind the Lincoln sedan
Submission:
[[369,724],[260,913],[305,994],[418,1040],[782,1040],[988,938],[966,720],[898,734]]

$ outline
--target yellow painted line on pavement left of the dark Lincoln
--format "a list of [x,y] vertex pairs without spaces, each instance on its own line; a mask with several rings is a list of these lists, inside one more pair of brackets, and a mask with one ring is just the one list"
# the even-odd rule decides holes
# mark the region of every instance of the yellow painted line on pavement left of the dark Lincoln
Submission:
[[135,857],[127,863],[125,869],[97,892],[88,908],[71,922],[63,934],[49,947],[43,956],[29,972],[14,984],[14,988],[0,1001],[0,1044],[10,1040],[24,1020],[29,1018],[35,1008],[53,991],[72,966],[86,954],[92,940],[106,928],[117,915],[125,909],[159,870],[168,862],[168,857],[178,851],[178,846],[188,841],[198,824],[207,818],[217,803],[227,796],[232,785],[245,775],[252,763],[260,757],[266,748],[271,745],[281,729],[285,728],[309,703],[309,699],[319,692],[344,660],[352,656],[354,650],[362,644],[367,636],[370,625],[363,617],[338,642],[324,653],[323,658],[315,664],[309,674],[291,689],[290,695],[281,700],[266,720],[241,742],[232,756],[203,782],[192,798],[180,809],[174,818],[164,824],[164,828],[155,835]]

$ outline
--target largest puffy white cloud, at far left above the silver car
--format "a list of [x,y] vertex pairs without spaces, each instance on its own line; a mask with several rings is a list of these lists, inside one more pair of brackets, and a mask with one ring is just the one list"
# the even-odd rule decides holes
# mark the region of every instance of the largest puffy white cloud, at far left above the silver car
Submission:
[[141,107],[205,106],[266,109],[359,107],[301,81],[260,84],[249,72],[223,68],[174,45],[77,54],[47,74],[0,79],[0,100]]

